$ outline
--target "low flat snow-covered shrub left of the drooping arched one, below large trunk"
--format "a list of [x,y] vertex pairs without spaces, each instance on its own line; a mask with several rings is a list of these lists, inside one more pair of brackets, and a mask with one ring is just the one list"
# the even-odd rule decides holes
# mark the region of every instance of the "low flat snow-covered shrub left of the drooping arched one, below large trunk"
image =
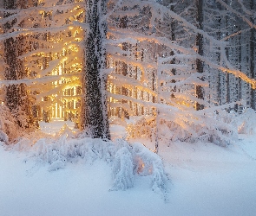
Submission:
[[111,142],[89,137],[62,136],[56,140],[43,138],[35,143],[33,149],[34,156],[50,164],[56,161],[66,163],[77,157],[90,162],[98,159],[112,162],[113,155],[115,155],[115,147]]

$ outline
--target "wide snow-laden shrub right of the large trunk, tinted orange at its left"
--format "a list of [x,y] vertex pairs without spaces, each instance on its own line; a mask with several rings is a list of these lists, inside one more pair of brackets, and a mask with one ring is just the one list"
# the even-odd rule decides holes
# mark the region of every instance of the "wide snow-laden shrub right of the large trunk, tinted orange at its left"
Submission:
[[206,109],[202,111],[174,111],[161,114],[158,119],[142,117],[128,125],[128,139],[146,138],[151,142],[169,145],[175,141],[195,143],[210,142],[226,146],[235,140],[233,114]]

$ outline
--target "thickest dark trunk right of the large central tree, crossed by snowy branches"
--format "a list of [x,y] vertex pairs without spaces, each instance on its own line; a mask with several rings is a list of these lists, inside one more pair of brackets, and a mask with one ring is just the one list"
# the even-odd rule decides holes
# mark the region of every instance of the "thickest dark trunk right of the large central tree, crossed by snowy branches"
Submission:
[[[203,29],[203,0],[196,0],[196,8],[197,8],[197,17],[196,20],[198,22],[198,28]],[[198,34],[196,36],[196,45],[198,47],[198,54],[201,56],[204,54],[203,50],[203,35]],[[203,62],[200,59],[196,60],[196,70],[198,73],[204,72],[204,66]],[[201,78],[203,79],[203,78]],[[196,97],[200,99],[204,99],[204,90],[202,86],[196,86],[195,87],[195,93]],[[197,111],[204,109],[204,105],[200,105],[199,103],[196,103],[195,109]]]

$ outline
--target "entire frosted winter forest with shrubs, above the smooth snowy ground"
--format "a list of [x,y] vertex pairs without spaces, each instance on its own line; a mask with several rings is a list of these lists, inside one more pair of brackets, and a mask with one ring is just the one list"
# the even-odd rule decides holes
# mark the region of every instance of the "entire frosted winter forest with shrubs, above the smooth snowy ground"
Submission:
[[239,143],[256,134],[256,0],[1,0],[0,61],[1,145],[36,166],[103,161],[110,191],[147,177],[164,202],[179,148],[255,171]]

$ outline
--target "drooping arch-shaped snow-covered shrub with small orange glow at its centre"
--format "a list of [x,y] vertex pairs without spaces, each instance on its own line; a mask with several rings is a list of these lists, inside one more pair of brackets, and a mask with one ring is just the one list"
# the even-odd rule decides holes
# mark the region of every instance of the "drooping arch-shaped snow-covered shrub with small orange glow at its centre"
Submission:
[[151,177],[151,187],[156,193],[166,194],[168,179],[164,172],[160,156],[141,143],[128,144],[124,140],[116,140],[117,152],[113,166],[113,190],[127,189],[134,184],[134,175]]

